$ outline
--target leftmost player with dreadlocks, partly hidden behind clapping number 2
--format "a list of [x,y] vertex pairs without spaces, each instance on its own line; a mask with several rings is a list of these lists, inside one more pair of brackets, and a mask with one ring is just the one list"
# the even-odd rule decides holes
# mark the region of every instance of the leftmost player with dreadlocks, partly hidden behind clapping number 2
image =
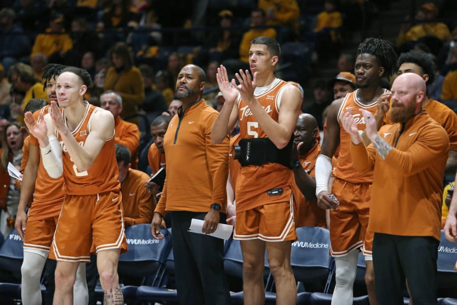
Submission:
[[[64,68],[66,67],[62,65],[48,64],[43,69],[42,80],[44,80],[44,88],[50,101],[57,101],[55,82]],[[38,118],[40,112],[46,114],[48,111],[49,105],[36,111],[34,115]],[[51,178],[43,166],[38,140],[30,135],[27,142],[29,142],[27,147],[29,155],[22,177],[15,227],[19,236],[24,240],[24,260],[21,267],[22,303],[38,305],[42,304],[40,278],[49,255],[65,194],[62,191],[63,178]],[[23,148],[26,148],[25,143],[26,140],[24,140]],[[27,216],[25,207],[31,201],[32,195],[33,202]],[[55,268],[55,263],[49,265]],[[78,305],[88,302],[85,270],[85,263],[80,264],[73,286],[74,303]],[[50,277],[45,281],[46,291],[53,291],[54,271],[49,271],[48,268],[47,271]]]

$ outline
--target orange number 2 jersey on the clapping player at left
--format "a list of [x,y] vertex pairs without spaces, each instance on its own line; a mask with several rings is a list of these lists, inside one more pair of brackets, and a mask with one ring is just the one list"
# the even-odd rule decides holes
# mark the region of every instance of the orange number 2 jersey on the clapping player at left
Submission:
[[[96,122],[91,121],[92,114],[97,111],[102,111],[102,109],[87,103],[83,119],[78,127],[72,131],[72,135],[81,146],[84,146],[84,143],[89,136],[91,125],[97,124]],[[63,114],[65,114],[64,109]],[[67,120],[65,123],[67,124]],[[67,148],[63,144],[60,135],[59,141],[63,150],[63,181],[66,194],[94,195],[120,190],[118,167],[114,149],[114,129],[113,135],[106,139],[99,156],[95,158],[92,166],[86,171],[78,170],[73,163]]]

